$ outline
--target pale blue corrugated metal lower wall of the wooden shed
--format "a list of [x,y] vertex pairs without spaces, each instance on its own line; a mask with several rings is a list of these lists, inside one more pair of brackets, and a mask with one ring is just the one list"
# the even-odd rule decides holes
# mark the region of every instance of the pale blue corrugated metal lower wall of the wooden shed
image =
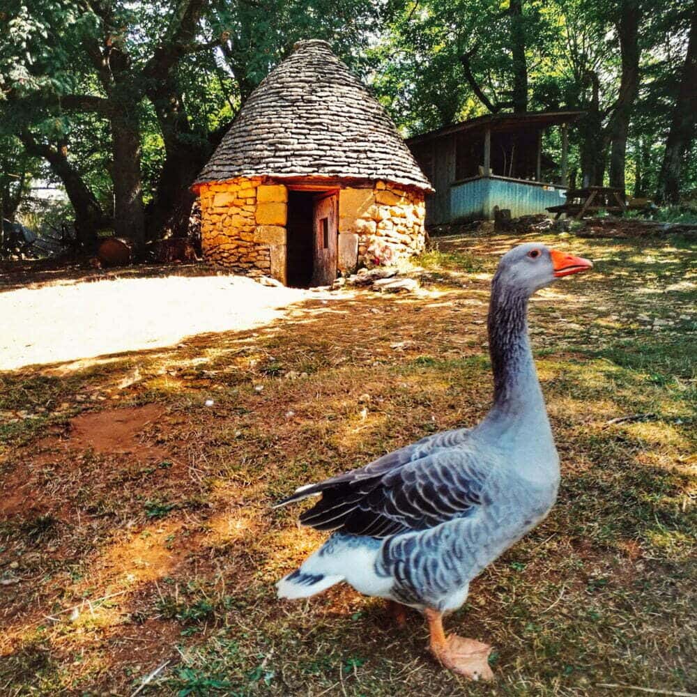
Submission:
[[450,187],[451,220],[492,220],[493,209],[508,208],[512,217],[546,213],[566,201],[564,189],[487,177]]

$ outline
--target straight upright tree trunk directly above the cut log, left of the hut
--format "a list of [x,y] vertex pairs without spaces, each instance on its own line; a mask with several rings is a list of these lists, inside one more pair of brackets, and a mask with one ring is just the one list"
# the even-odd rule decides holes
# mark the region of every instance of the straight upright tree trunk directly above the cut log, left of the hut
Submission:
[[125,113],[112,116],[112,181],[114,234],[131,240],[136,250],[139,250],[145,242],[145,215],[140,175],[140,131],[134,115],[136,111],[137,105],[128,105],[123,109]]

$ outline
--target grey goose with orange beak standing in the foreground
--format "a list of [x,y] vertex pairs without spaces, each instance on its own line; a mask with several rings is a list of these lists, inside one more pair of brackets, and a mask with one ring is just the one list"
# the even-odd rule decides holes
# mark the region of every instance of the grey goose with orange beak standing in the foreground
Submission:
[[471,429],[443,431],[371,464],[300,487],[276,507],[321,494],[300,522],[332,535],[277,594],[298,599],[346,582],[363,595],[421,611],[429,648],[454,673],[491,680],[491,647],[445,635],[443,615],[470,581],[535,528],[555,503],[559,458],[528,337],[530,296],[592,268],[588,259],[526,243],[491,282],[487,328],[493,406]]

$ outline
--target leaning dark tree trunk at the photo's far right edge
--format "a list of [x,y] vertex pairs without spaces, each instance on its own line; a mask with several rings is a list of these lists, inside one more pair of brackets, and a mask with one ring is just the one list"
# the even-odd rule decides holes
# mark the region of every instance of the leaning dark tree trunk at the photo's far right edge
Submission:
[[694,139],[697,117],[697,9],[692,11],[687,55],[680,77],[657,192],[659,202],[666,204],[680,201],[682,165]]

